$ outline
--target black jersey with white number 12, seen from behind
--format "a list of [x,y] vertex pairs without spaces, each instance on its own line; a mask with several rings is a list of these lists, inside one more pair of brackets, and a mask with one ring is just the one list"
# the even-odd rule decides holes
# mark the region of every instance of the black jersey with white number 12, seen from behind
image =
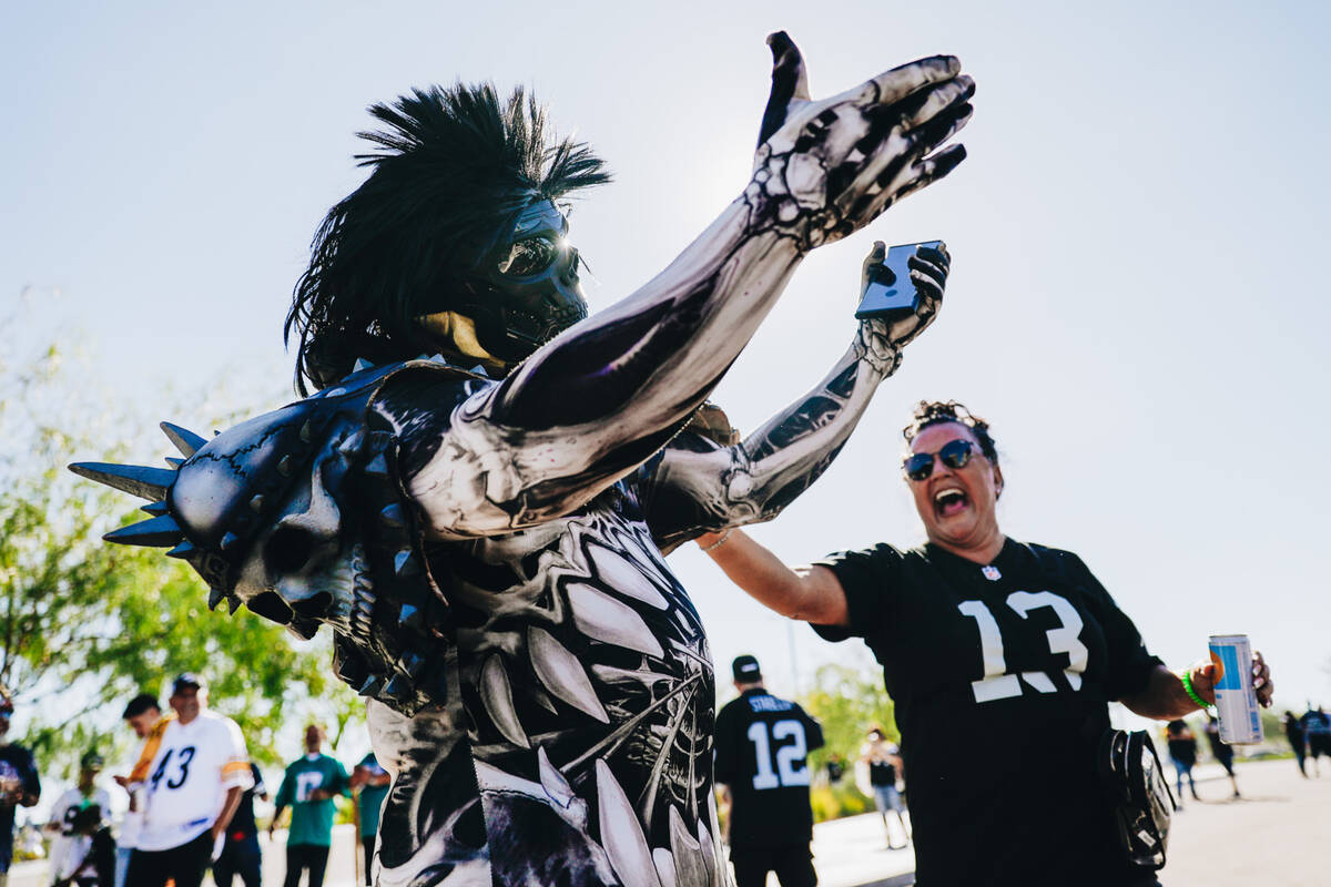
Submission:
[[795,702],[745,690],[716,715],[716,781],[731,790],[731,847],[808,844],[809,766],[823,727]]

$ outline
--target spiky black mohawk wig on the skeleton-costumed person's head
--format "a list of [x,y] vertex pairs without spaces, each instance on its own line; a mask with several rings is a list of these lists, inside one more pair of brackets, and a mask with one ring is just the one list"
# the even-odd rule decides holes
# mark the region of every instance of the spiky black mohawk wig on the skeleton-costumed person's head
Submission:
[[[373,172],[329,210],[295,285],[284,336],[299,336],[295,387],[323,388],[357,358],[403,360],[434,348],[411,322],[455,283],[459,262],[534,198],[610,181],[584,142],[558,138],[543,105],[518,86],[414,89],[370,114]],[[451,279],[450,279],[451,278]]]

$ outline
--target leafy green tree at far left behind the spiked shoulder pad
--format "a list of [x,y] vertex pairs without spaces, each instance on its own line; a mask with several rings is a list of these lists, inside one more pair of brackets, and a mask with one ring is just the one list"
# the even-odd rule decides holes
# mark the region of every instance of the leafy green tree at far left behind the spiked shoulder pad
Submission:
[[0,682],[25,719],[20,741],[47,773],[71,774],[89,746],[128,753],[124,702],[185,670],[206,676],[212,706],[236,718],[261,763],[278,762],[284,722],[331,717],[341,738],[363,717],[331,674],[327,637],[302,642],[245,609],[209,612],[186,565],[101,541],[142,515],[65,463],[161,451],[161,440],[108,430],[153,423],[110,415],[112,400],[72,378],[53,347],[0,355]]

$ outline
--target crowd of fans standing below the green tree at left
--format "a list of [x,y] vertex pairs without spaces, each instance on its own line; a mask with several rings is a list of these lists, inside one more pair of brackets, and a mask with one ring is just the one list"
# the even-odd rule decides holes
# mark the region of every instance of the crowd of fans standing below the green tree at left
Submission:
[[[0,697],[0,734],[13,706]],[[142,741],[128,773],[113,782],[125,793],[113,803],[98,783],[104,759],[96,750],[79,762],[77,783],[60,795],[41,827],[49,839],[51,887],[153,887],[173,882],[197,887],[210,870],[217,887],[238,879],[262,883],[262,850],[254,799],[269,799],[258,766],[249,759],[240,726],[208,707],[208,682],[184,673],[170,686],[169,711],[142,693],[122,713]],[[379,813],[390,777],[365,755],[351,773],[322,753],[323,727],[305,730],[305,755],[282,777],[268,826],[270,842],[290,811],[286,835],[287,887],[321,887],[333,843],[337,801],[353,802],[358,822],[358,868],[370,883]],[[33,755],[19,745],[0,746],[0,887],[13,859],[15,807],[40,801]],[[126,807],[118,823],[113,809]]]

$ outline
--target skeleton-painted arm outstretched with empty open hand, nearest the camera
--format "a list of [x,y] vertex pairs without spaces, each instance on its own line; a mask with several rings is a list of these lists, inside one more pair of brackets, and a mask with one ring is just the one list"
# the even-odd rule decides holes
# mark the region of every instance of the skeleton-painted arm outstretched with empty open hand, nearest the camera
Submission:
[[[427,532],[458,539],[567,515],[660,449],[707,398],[803,257],[965,156],[941,150],[974,82],[940,56],[812,101],[799,51],[775,66],[753,174],[721,215],[638,293],[570,328],[507,379],[482,384],[413,457]],[[390,419],[409,448],[410,426]]]

